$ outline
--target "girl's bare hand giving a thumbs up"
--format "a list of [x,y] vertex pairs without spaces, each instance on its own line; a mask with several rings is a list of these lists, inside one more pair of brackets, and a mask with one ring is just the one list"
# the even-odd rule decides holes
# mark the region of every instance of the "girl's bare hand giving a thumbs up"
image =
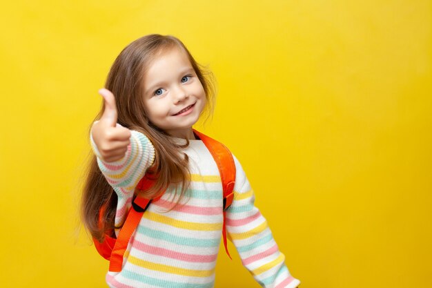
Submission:
[[102,88],[99,94],[104,97],[104,114],[92,127],[92,137],[105,162],[120,160],[130,144],[130,131],[117,124],[117,106],[110,90]]

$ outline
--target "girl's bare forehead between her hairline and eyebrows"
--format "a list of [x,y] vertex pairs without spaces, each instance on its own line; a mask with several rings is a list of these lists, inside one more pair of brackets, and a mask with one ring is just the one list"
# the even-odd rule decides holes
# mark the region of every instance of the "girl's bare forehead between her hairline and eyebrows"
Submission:
[[144,73],[144,84],[151,85],[153,81],[175,76],[188,68],[192,68],[192,64],[184,50],[181,48],[163,50],[148,64]]

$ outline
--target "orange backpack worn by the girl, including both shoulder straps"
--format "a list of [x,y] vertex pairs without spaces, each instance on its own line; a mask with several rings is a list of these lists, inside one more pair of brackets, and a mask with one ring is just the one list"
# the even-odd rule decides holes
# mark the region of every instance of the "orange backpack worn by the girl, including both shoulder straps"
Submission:
[[[217,142],[216,140],[199,133],[195,129],[193,130],[195,135],[199,137],[200,140],[206,145],[208,151],[210,151],[213,159],[217,164],[217,168],[219,169],[219,174],[222,180],[222,189],[224,191],[224,224],[222,227],[222,237],[224,238],[224,246],[225,251],[228,254],[228,257],[231,258],[230,253],[228,252],[227,241],[226,241],[226,209],[230,207],[233,203],[234,198],[234,184],[235,184],[235,164],[233,155],[230,153],[228,148],[224,146],[224,144]],[[137,189],[139,191],[145,191],[149,186],[153,184],[154,180],[150,177],[147,177],[147,174],[142,177],[142,179],[137,184]],[[155,198],[153,200],[159,200],[161,196]],[[109,231],[105,234],[104,242],[99,242],[99,240],[93,238],[93,242],[95,243],[95,247],[99,254],[104,257],[106,260],[110,261],[109,271],[119,272],[121,271],[121,267],[123,265],[123,256],[126,248],[128,247],[128,242],[132,233],[137,229],[139,221],[144,214],[144,211],[148,208],[152,202],[151,199],[146,199],[141,196],[137,196],[135,200],[132,202],[132,207],[129,209],[128,216],[126,217],[126,221],[124,222],[123,227],[119,232],[117,238],[112,237],[114,233]],[[105,206],[101,208],[99,211],[99,222],[102,220],[102,215],[104,215]]]

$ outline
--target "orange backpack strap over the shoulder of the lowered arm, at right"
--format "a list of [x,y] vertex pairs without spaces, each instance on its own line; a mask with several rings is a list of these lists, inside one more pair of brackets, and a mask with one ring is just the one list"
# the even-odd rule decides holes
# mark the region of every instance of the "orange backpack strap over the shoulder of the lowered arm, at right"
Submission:
[[226,210],[233,203],[234,198],[234,184],[235,184],[235,163],[233,155],[230,153],[228,148],[224,144],[217,142],[213,138],[210,138],[202,133],[199,133],[193,129],[195,135],[206,145],[208,151],[210,151],[213,159],[219,169],[219,174],[222,180],[222,189],[224,191],[224,226],[222,227],[222,237],[224,238],[224,246],[226,254],[230,259],[230,253],[228,251],[228,243],[226,241]]

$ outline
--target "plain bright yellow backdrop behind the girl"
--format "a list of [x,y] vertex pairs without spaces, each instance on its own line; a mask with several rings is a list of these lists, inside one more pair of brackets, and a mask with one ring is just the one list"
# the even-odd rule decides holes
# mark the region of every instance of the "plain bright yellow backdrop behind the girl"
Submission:
[[[431,13],[426,0],[3,3],[0,287],[106,287],[77,230],[87,129],[112,61],[154,32],[215,73],[215,115],[197,128],[242,162],[301,287],[432,287]],[[219,254],[216,287],[259,287],[234,254]]]

